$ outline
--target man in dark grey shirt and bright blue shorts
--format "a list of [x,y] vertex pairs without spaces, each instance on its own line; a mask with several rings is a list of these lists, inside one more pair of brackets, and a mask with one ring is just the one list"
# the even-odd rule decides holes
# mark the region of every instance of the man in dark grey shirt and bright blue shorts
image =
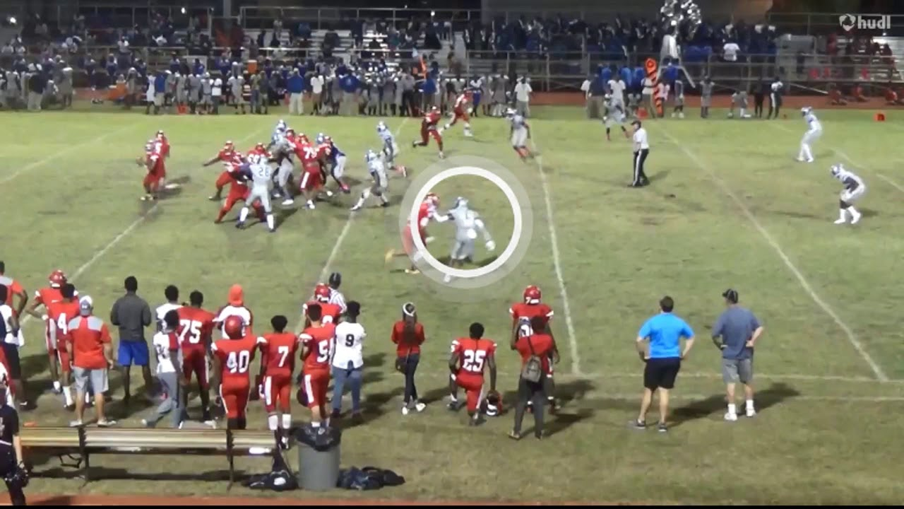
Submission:
[[126,278],[124,283],[126,294],[113,303],[110,310],[110,323],[119,328],[118,362],[122,370],[122,387],[125,395],[123,401],[128,403],[131,393],[132,365],[141,367],[148,392],[154,387],[151,379],[151,368],[148,365],[145,327],[151,325],[151,308],[138,296],[138,280],[134,275]]

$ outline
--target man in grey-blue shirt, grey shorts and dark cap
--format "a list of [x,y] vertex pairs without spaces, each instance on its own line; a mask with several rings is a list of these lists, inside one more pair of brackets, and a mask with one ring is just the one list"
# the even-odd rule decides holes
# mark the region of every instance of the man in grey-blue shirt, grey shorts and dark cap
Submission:
[[763,326],[749,309],[738,305],[738,292],[728,289],[722,293],[728,309],[719,315],[712,326],[712,342],[722,351],[722,380],[729,400],[725,420],[738,420],[734,389],[738,382],[744,384],[747,399],[747,417],[757,415],[753,407],[753,345],[763,333]]

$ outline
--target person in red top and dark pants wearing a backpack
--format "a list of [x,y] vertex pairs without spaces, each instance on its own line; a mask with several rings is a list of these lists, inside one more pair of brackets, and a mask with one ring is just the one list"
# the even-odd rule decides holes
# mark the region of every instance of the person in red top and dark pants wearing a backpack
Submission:
[[521,439],[521,425],[524,420],[524,411],[528,402],[533,408],[533,435],[538,439],[543,437],[543,410],[546,403],[546,393],[543,388],[543,379],[546,373],[550,373],[550,360],[559,362],[559,353],[556,350],[552,336],[546,333],[546,317],[538,316],[531,319],[533,334],[524,337],[512,336],[512,350],[521,355],[522,369],[518,378],[518,401],[514,408],[514,427],[509,437],[514,440]]

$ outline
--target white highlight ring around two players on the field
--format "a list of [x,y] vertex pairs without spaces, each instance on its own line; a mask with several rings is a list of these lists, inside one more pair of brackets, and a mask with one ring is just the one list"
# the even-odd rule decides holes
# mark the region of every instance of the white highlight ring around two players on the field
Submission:
[[[415,248],[419,251],[419,253],[423,254],[424,261],[426,261],[431,267],[436,269],[439,273],[450,276],[457,277],[461,279],[474,279],[477,277],[485,276],[486,274],[493,273],[494,270],[502,267],[509,259],[514,255],[515,249],[518,248],[518,243],[521,241],[521,232],[523,228],[523,216],[521,213],[521,203],[518,202],[518,197],[515,196],[514,189],[508,185],[507,182],[492,171],[489,171],[484,168],[477,168],[473,166],[461,166],[456,168],[448,168],[440,171],[438,174],[434,175],[427,181],[423,187],[418,191],[418,195],[414,198],[414,204],[411,206],[411,214],[409,216],[410,227],[412,228],[420,228],[418,224],[418,211],[420,204],[424,203],[424,200],[427,198],[428,193],[434,187],[437,187],[440,182],[444,180],[448,180],[449,178],[461,177],[461,176],[474,176],[485,178],[490,182],[493,182],[496,187],[503,192],[506,198],[509,200],[509,205],[512,206],[512,215],[514,218],[514,226],[512,232],[512,238],[509,240],[508,245],[505,246],[505,250],[502,255],[499,255],[492,264],[485,265],[483,267],[477,267],[476,269],[458,269],[455,267],[450,267],[446,264],[442,264],[439,260],[430,253],[427,249],[427,246],[424,245],[424,242],[421,240],[420,235],[411,235],[411,240],[414,242]],[[411,232],[414,234],[414,230]]]

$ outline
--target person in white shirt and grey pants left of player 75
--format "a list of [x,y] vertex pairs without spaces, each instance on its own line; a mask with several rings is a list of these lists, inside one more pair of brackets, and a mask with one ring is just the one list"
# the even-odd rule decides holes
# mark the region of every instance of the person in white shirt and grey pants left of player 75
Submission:
[[148,418],[141,419],[141,424],[145,427],[156,427],[160,419],[170,414],[173,418],[173,427],[178,428],[182,425],[185,412],[182,407],[182,392],[188,385],[183,374],[182,355],[176,335],[179,328],[179,312],[170,308],[165,312],[162,322],[161,330],[154,335],[153,344],[157,357],[157,380],[160,382],[164,400]]

